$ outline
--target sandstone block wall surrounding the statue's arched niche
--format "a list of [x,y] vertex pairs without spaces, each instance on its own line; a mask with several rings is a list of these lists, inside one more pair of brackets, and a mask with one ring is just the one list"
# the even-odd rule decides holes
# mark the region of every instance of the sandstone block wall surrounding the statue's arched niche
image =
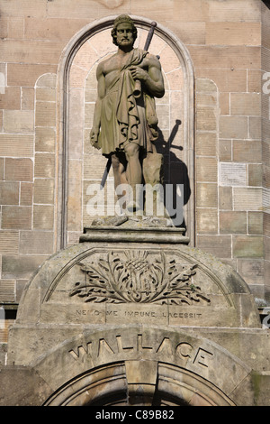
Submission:
[[[255,295],[264,298],[270,263],[269,103],[262,96],[262,74],[269,71],[266,5],[261,0],[3,0],[0,302],[18,303],[31,273],[58,249],[62,52],[85,25],[122,13],[157,21],[190,55],[196,106],[194,242],[231,264]],[[111,39],[108,43],[111,48]],[[168,64],[166,56],[161,60]],[[74,93],[76,100],[79,94]],[[76,116],[72,119],[76,131],[80,123]],[[164,134],[167,140],[166,127]],[[79,185],[76,180],[81,175],[76,153],[69,169],[68,243],[76,243],[84,226],[83,202],[76,198],[78,191],[79,198],[84,193],[82,180]],[[188,171],[192,180],[193,170]],[[6,335],[6,326],[0,327],[0,342]]]

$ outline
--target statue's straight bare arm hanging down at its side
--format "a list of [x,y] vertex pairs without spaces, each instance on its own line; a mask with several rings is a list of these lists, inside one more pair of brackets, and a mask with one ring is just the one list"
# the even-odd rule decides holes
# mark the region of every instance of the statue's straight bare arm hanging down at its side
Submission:
[[105,77],[103,75],[103,66],[100,63],[96,69],[96,78],[97,78],[97,99],[94,106],[94,119],[93,126],[90,132],[90,143],[97,148],[100,148],[98,145],[98,135],[100,131],[101,124],[101,113],[102,113],[102,100],[105,97]]

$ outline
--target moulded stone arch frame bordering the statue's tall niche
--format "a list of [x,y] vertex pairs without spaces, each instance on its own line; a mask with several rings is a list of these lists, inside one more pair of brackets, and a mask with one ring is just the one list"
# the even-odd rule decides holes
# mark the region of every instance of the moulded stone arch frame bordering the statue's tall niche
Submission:
[[[58,249],[66,247],[67,240],[67,198],[68,198],[68,149],[69,149],[69,107],[70,107],[70,69],[76,59],[76,53],[82,48],[85,42],[89,41],[94,35],[109,30],[112,27],[113,20],[116,16],[108,16],[100,21],[96,21],[86,25],[80,32],[68,42],[62,53],[58,65],[58,116],[57,116],[57,134],[58,134]],[[151,21],[140,16],[131,16],[138,28],[143,31],[148,30]],[[162,25],[157,25],[157,37],[166,43],[177,60],[179,68],[183,71],[184,92],[183,92],[183,154],[182,161],[184,167],[188,170],[188,178],[190,185],[190,196],[188,203],[185,205],[185,217],[188,222],[187,235],[193,244],[194,240],[194,189],[193,189],[193,127],[194,127],[194,111],[193,111],[193,64],[189,52],[184,44],[178,40],[175,35],[168,31]],[[172,75],[173,77],[173,75]],[[175,78],[173,78],[175,80]],[[177,99],[175,100],[177,103]],[[178,102],[179,104],[179,102]],[[177,119],[177,116],[176,116]],[[173,129],[173,125],[172,128]],[[75,163],[75,162],[74,162]],[[76,172],[75,170],[73,170]],[[75,190],[78,188],[76,187]],[[79,187],[82,190],[82,187]],[[81,228],[76,228],[77,234],[81,232]],[[75,231],[75,233],[76,233]],[[72,233],[72,231],[71,231]]]

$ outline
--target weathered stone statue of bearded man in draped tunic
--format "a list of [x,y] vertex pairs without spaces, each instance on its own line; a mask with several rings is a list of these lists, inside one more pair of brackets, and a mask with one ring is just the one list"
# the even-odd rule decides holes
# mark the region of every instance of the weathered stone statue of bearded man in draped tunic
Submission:
[[[165,93],[157,57],[135,49],[136,38],[137,28],[130,16],[121,15],[115,19],[112,40],[118,51],[97,67],[98,96],[90,134],[92,145],[102,149],[104,156],[112,157],[115,188],[119,184],[129,184],[134,194],[136,185],[148,179],[150,167],[142,165],[144,159],[156,152],[153,144],[157,140],[154,97],[163,97]],[[134,90],[138,80],[141,95],[137,98]],[[155,162],[151,159],[149,163]],[[157,167],[160,168],[160,163]],[[148,170],[143,171],[143,168]],[[129,207],[136,210],[138,205],[135,201]]]

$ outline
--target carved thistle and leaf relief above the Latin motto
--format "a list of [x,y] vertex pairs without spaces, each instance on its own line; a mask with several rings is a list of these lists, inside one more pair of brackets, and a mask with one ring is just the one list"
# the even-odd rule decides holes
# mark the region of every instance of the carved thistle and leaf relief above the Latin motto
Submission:
[[193,282],[196,264],[180,265],[163,252],[110,251],[92,262],[76,263],[84,274],[71,297],[92,303],[156,303],[193,305],[209,303]]

